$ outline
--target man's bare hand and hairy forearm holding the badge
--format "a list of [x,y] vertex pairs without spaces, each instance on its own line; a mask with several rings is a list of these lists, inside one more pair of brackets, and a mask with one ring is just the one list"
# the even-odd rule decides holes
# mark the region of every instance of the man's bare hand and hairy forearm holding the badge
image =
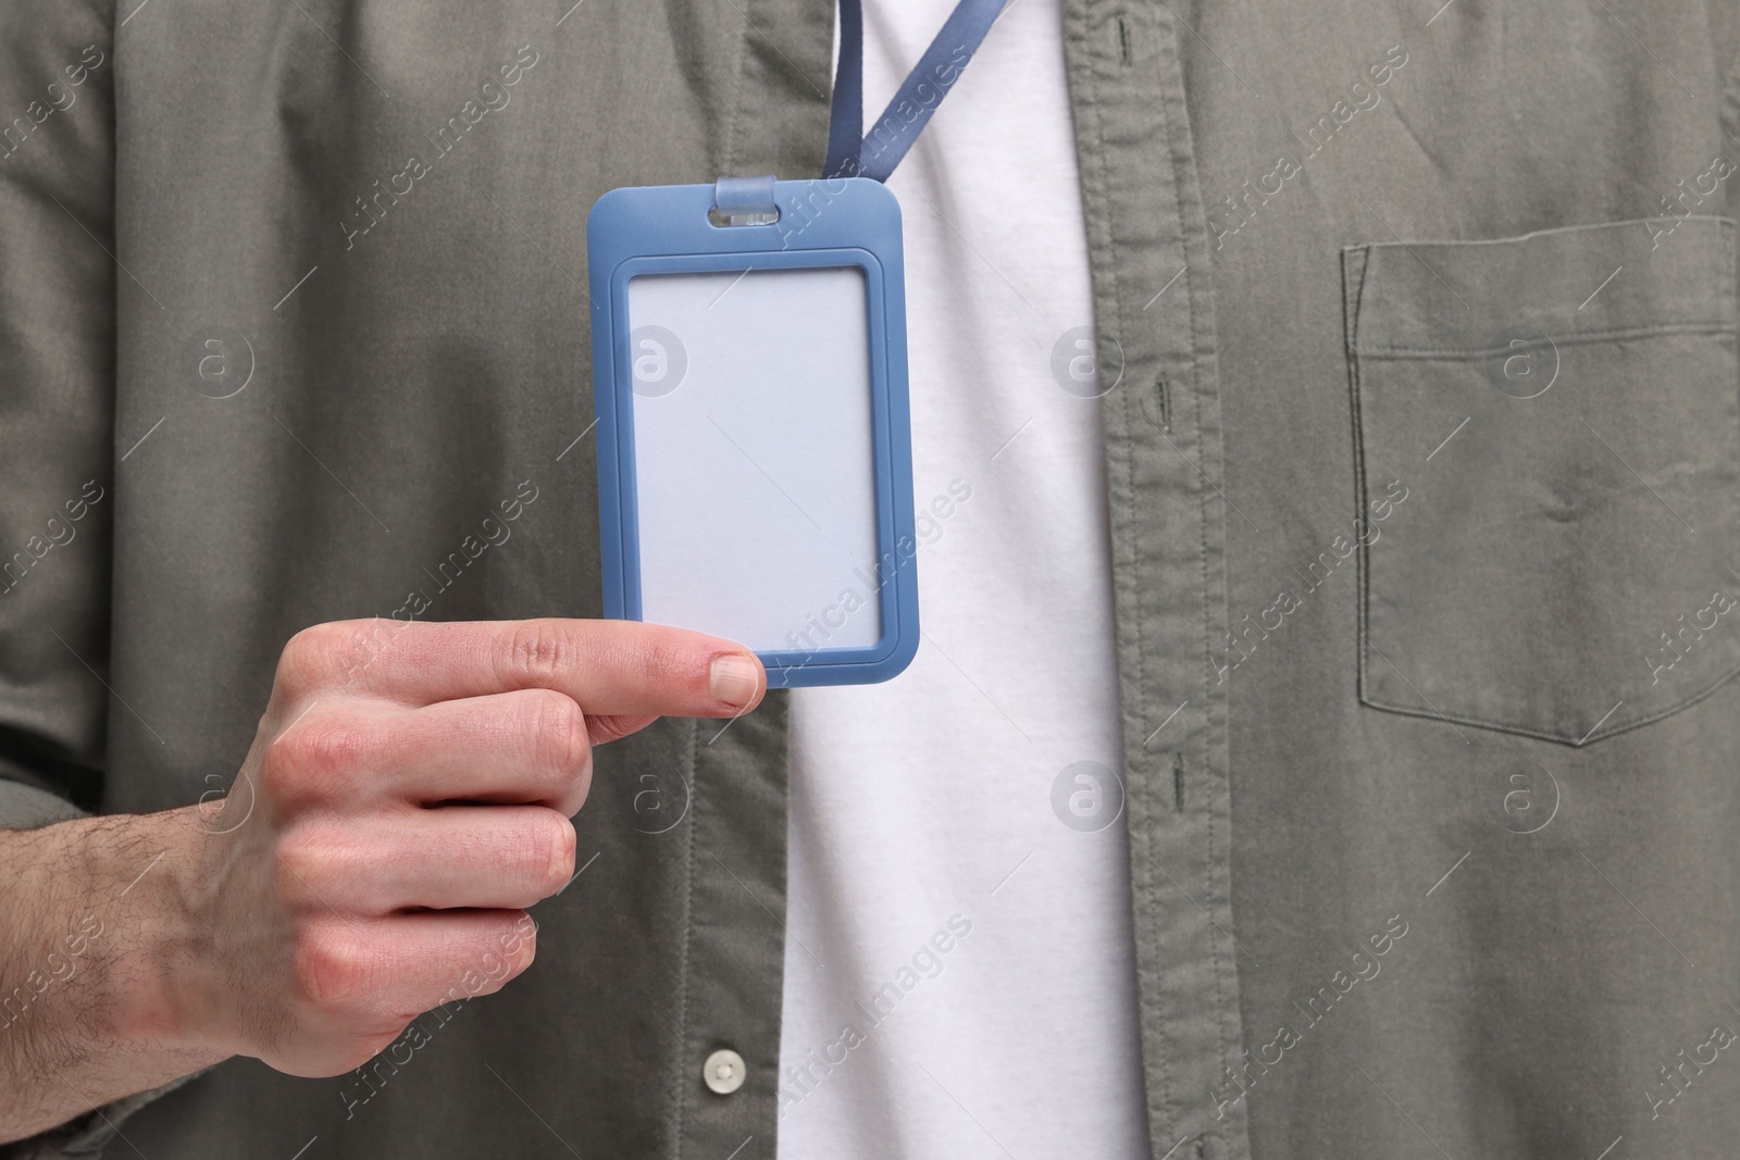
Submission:
[[753,654],[656,624],[299,633],[221,809],[0,831],[0,998],[101,927],[0,1016],[0,1141],[233,1054],[338,1075],[461,979],[498,990],[574,873],[592,744],[764,689]]

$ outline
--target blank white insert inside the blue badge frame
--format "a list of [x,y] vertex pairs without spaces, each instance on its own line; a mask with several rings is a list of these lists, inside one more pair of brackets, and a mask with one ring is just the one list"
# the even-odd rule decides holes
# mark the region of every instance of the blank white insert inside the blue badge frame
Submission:
[[863,271],[637,275],[628,350],[642,619],[757,652],[875,645]]

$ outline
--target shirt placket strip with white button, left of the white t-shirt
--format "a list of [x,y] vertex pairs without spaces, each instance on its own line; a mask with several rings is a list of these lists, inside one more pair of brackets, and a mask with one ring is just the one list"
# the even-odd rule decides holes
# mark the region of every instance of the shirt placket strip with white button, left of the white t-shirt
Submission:
[[[828,141],[832,0],[748,0],[719,118],[719,174],[820,174]],[[771,1157],[785,981],[788,699],[698,722],[680,871],[677,1160]]]

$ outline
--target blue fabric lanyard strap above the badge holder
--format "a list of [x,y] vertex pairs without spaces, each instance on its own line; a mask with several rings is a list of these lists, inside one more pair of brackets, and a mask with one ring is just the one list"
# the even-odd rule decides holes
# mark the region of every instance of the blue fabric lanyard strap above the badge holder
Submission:
[[960,0],[860,141],[865,118],[863,0],[840,0],[840,61],[833,71],[828,162],[821,176],[887,181],[1000,14],[1002,0]]

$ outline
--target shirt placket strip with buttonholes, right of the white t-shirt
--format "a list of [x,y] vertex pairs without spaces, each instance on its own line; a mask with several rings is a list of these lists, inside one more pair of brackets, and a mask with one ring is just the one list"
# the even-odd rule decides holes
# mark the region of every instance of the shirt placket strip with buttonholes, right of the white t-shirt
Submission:
[[1221,428],[1209,247],[1174,14],[1072,0],[1070,94],[1107,485],[1154,1157],[1249,1157],[1232,941]]

